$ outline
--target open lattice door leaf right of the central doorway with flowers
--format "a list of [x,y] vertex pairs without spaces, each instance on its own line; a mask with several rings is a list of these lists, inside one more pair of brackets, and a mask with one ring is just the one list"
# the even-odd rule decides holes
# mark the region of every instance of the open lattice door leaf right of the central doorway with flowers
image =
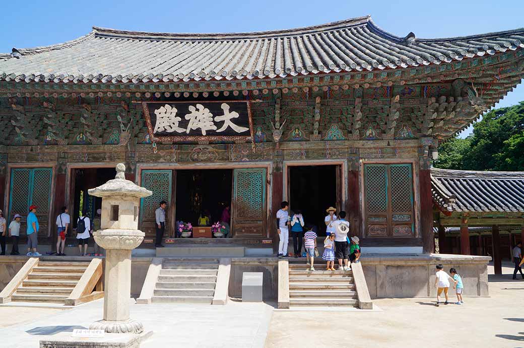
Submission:
[[233,235],[265,236],[266,169],[235,169],[233,182]]

